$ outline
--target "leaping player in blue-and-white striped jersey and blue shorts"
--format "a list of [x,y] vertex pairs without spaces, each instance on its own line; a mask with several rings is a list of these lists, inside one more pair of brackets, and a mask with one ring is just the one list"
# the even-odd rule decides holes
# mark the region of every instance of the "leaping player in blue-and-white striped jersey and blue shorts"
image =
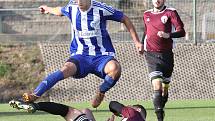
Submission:
[[64,7],[39,7],[44,14],[67,16],[72,25],[71,57],[64,66],[49,74],[33,91],[23,94],[26,102],[33,102],[58,81],[68,77],[84,78],[89,73],[104,79],[92,100],[97,108],[105,93],[119,80],[121,66],[114,58],[115,50],[106,29],[107,20],[124,23],[141,54],[143,45],[130,19],[121,11],[95,0],[70,0]]

